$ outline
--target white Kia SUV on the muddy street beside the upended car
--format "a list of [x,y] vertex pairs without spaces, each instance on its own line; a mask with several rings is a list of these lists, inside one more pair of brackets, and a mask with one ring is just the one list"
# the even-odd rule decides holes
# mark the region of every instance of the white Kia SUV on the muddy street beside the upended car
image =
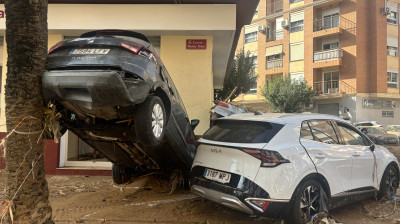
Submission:
[[232,115],[199,143],[192,192],[288,223],[374,194],[390,198],[399,186],[396,157],[335,116]]

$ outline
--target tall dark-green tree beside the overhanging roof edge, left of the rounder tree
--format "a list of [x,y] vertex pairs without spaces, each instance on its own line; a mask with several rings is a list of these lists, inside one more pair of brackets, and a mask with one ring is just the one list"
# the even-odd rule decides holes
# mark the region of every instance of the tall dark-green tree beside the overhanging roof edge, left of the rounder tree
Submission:
[[222,90],[218,93],[217,98],[225,100],[229,94],[238,87],[235,93],[230,97],[229,101],[235,99],[241,93],[246,93],[254,84],[257,83],[258,76],[254,70],[254,58],[250,57],[250,52],[246,54],[241,51],[233,59],[228,79],[225,80]]

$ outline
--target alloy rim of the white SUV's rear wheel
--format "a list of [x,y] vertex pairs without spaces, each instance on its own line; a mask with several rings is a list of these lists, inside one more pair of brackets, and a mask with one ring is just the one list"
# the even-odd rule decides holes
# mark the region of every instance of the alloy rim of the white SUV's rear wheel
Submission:
[[304,219],[310,220],[313,215],[318,213],[319,198],[320,189],[318,187],[308,186],[304,189],[300,201],[300,211]]

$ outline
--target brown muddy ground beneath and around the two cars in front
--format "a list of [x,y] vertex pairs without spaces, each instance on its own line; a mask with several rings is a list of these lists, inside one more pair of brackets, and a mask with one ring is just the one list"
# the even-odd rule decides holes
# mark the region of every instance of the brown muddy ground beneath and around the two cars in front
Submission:
[[[400,147],[390,147],[400,159]],[[4,189],[0,170],[0,189]],[[169,184],[146,176],[115,186],[112,178],[47,176],[56,223],[280,223],[205,201],[178,189],[169,195]],[[398,190],[400,195],[400,189]],[[0,198],[4,191],[0,191]],[[400,223],[400,201],[368,199],[331,211],[342,223]]]

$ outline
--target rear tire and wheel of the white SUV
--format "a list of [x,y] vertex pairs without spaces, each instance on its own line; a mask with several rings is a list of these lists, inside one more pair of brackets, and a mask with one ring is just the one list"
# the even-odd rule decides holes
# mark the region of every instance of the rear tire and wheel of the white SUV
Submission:
[[320,212],[321,203],[328,204],[326,197],[321,198],[321,191],[324,189],[316,180],[302,182],[292,197],[286,223],[309,223],[312,216]]

